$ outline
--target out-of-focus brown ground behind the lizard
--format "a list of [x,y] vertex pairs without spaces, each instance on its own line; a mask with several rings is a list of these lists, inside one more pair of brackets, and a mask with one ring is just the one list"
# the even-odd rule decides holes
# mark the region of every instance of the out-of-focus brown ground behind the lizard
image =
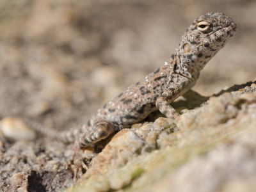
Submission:
[[253,0],[0,0],[0,118],[65,129],[163,65],[198,16],[223,12],[237,33],[194,90],[256,77]]

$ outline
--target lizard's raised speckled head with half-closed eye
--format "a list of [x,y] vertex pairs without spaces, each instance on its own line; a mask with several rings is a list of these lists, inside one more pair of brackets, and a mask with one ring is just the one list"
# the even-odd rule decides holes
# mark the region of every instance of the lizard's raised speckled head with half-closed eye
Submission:
[[198,17],[180,41],[180,66],[199,72],[235,32],[236,24],[223,13],[210,12]]

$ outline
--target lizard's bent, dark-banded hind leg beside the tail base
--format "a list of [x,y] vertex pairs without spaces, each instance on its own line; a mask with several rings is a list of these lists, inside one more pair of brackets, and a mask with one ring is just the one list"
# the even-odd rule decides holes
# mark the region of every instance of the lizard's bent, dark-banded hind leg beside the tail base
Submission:
[[90,145],[108,138],[108,136],[114,131],[115,127],[113,124],[111,124],[111,122],[108,122],[107,120],[98,120],[95,122],[90,132],[84,133],[84,135],[80,138],[79,147],[90,147]]

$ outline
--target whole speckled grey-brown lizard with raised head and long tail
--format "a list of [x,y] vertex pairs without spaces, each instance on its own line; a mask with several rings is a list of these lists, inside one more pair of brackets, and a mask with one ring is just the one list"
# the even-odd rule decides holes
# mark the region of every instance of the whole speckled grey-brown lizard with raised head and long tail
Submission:
[[115,131],[141,122],[153,111],[159,110],[167,118],[175,119],[179,113],[170,103],[181,95],[195,93],[191,88],[200,71],[235,32],[236,24],[227,15],[218,12],[202,15],[186,29],[175,54],[164,65],[103,104],[87,124],[63,132],[32,127],[53,138],[77,143],[79,148],[88,148]]

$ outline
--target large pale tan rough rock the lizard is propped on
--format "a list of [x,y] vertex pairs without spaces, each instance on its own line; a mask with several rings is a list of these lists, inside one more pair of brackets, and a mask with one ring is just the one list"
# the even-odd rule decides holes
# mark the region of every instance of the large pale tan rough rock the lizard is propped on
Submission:
[[175,124],[158,118],[119,132],[93,159],[86,179],[68,191],[250,191],[256,178],[256,84],[228,91]]

